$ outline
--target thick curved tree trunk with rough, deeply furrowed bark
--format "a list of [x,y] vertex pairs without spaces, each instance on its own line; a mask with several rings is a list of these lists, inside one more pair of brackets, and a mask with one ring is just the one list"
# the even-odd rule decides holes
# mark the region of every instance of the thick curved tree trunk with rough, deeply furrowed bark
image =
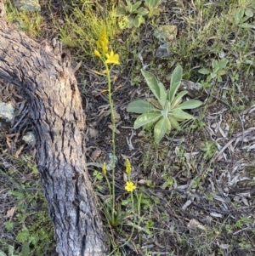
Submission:
[[60,256],[105,255],[105,233],[85,159],[85,115],[68,56],[5,23],[0,0],[0,78],[31,105],[37,167]]

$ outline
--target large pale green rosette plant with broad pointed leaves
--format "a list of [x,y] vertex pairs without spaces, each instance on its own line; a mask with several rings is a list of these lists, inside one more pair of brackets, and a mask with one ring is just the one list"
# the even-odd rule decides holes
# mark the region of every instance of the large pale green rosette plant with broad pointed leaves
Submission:
[[133,128],[154,126],[155,141],[159,143],[165,134],[170,133],[172,128],[181,129],[178,122],[195,119],[183,110],[194,109],[202,105],[202,102],[200,100],[188,100],[182,103],[183,97],[188,94],[188,91],[177,94],[183,75],[183,69],[180,65],[174,69],[168,89],[161,82],[158,82],[150,72],[142,70],[142,74],[156,100],[134,100],[127,105],[127,111],[142,114],[134,122]]

